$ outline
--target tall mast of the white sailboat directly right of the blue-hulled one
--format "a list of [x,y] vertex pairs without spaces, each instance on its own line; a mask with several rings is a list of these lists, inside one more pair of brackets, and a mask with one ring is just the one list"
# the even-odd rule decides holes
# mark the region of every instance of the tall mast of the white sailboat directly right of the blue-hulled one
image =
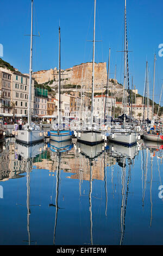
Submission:
[[91,102],[91,127],[93,127],[93,111],[94,111],[94,84],[95,84],[95,21],[96,21],[96,0],[94,11],[94,27],[93,27],[93,63],[92,63],[92,102]]

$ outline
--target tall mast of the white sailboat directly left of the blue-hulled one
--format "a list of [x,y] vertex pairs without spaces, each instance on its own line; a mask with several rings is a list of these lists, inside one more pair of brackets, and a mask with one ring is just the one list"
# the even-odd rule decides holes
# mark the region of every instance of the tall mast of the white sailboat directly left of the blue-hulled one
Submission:
[[33,0],[31,1],[31,33],[30,33],[30,64],[29,64],[28,126],[30,126],[30,123],[31,123],[32,51],[33,51]]

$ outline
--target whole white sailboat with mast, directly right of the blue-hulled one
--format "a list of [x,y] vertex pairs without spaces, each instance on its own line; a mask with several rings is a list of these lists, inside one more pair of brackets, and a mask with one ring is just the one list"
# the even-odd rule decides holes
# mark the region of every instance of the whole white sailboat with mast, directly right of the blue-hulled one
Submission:
[[86,144],[97,144],[104,141],[105,136],[99,129],[94,120],[94,84],[95,84],[95,20],[96,20],[96,0],[95,0],[95,11],[94,11],[94,28],[93,28],[93,62],[92,62],[92,100],[91,100],[91,120],[82,126],[81,130],[77,131],[77,140]]

